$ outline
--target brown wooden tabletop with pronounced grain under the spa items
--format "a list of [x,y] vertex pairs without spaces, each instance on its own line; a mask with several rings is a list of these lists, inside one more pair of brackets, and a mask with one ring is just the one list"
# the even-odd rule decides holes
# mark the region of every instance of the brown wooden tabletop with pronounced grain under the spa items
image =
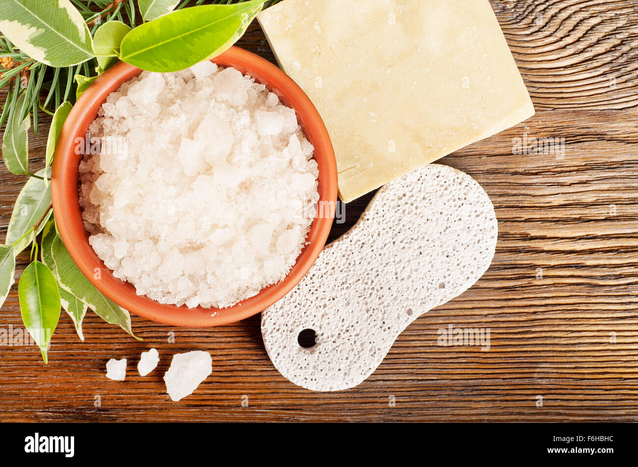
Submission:
[[[216,329],[133,317],[140,343],[90,312],[80,342],[63,314],[48,366],[34,347],[0,347],[0,420],[637,420],[638,7],[492,4],[537,114],[440,162],[487,190],[496,255],[474,287],[409,326],[366,382],[334,393],[291,384],[263,349],[259,316]],[[239,45],[274,61],[256,24]],[[512,155],[524,134],[565,138],[564,155]],[[31,141],[34,166],[45,138]],[[0,169],[2,234],[24,181]],[[332,238],[369,198],[347,206]],[[18,271],[26,264],[20,255]],[[449,324],[489,328],[490,350],[438,346]],[[16,287],[0,310],[9,325],[22,327]],[[150,347],[161,363],[139,377]],[[196,349],[211,352],[212,375],[173,403],[162,380],[170,356]],[[125,382],[105,378],[111,357],[129,359]]]

